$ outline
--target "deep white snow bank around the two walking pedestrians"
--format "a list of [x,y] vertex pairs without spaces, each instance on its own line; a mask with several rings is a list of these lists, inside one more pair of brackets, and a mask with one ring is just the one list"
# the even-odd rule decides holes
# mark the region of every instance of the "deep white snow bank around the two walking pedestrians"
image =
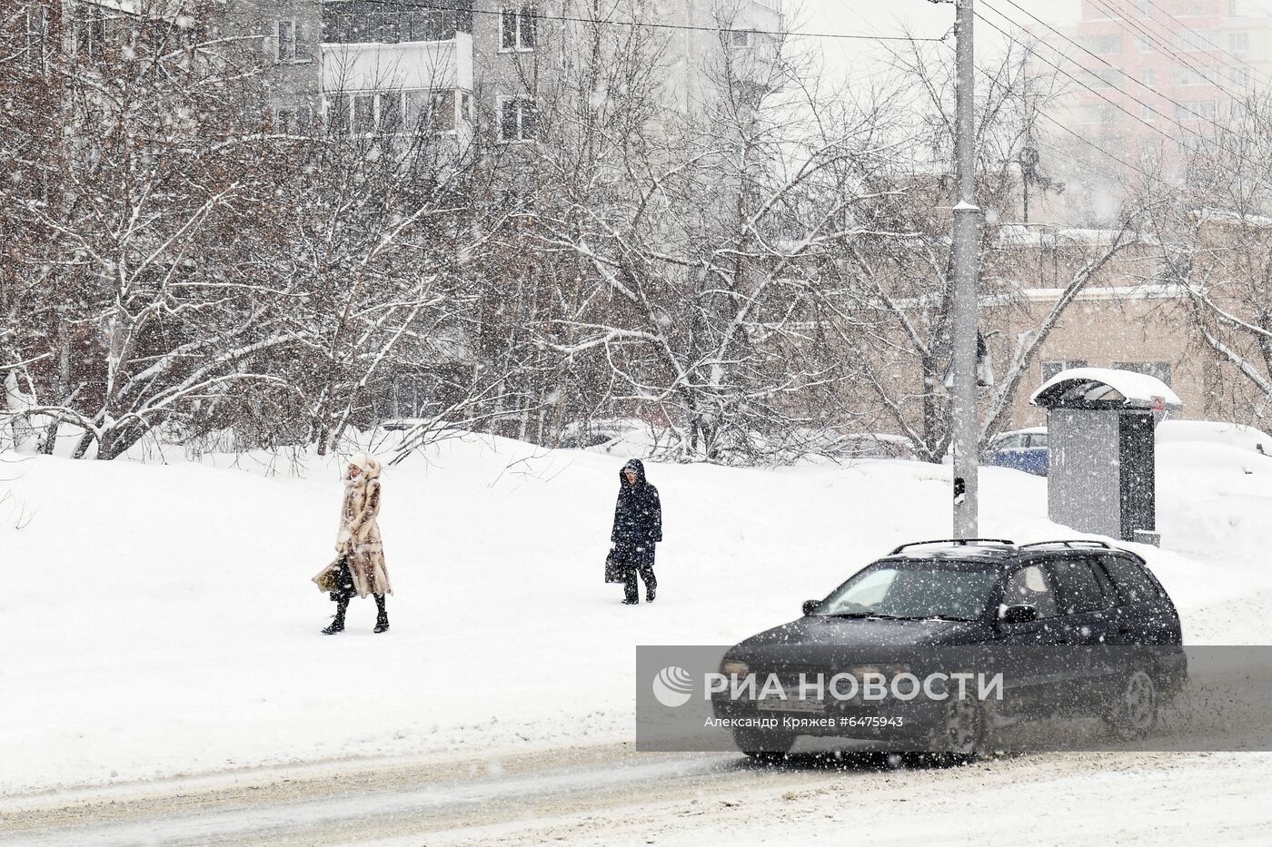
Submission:
[[[1272,474],[1163,454],[1168,549],[1146,554],[1186,631],[1266,640],[1266,616],[1189,627],[1272,596]],[[332,604],[309,577],[333,552],[340,459],[308,457],[300,477],[216,464],[232,463],[5,465],[0,792],[630,739],[635,645],[731,644],[897,543],[949,534],[943,465],[651,464],[659,600],[627,608],[602,581],[621,460],[452,440],[384,474],[392,631],[373,635],[374,604],[355,600],[349,631],[323,637]],[[986,468],[982,491],[986,535],[1075,534],[1046,519],[1044,479]]]

